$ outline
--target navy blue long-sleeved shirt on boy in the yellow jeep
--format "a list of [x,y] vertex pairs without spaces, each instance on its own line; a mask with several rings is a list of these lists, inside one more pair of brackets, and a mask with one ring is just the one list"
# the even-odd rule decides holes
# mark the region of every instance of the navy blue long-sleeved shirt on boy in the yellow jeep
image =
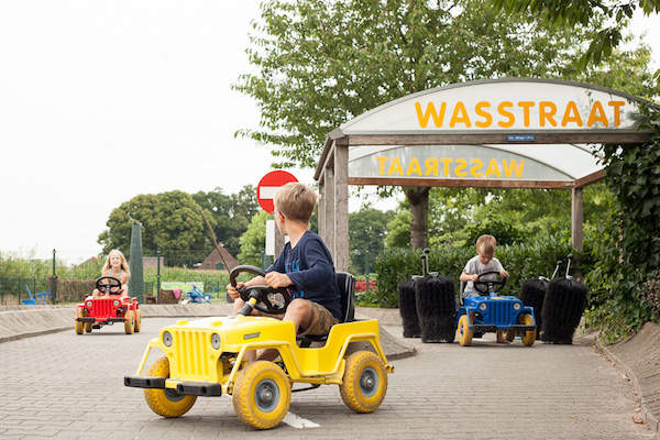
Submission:
[[286,243],[275,263],[266,270],[268,272],[288,275],[294,284],[287,288],[294,299],[305,298],[318,302],[341,320],[332,255],[319,235],[306,231],[294,249],[290,242]]

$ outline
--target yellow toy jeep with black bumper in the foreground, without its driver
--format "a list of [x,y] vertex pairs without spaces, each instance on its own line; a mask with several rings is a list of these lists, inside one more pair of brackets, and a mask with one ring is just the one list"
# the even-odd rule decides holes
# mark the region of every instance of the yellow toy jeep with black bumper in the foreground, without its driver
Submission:
[[[232,271],[261,274],[253,266]],[[320,385],[339,385],[344,404],[356,413],[372,413],[381,406],[387,391],[387,363],[381,346],[377,320],[353,320],[354,279],[338,273],[342,296],[343,322],[334,324],[327,337],[296,339],[293,322],[250,316],[252,307],[283,312],[288,305],[273,298],[282,290],[256,286],[241,292],[248,305],[235,317],[179,320],[161,330],[150,341],[134,376],[124,385],[145,388],[150,408],[163,417],[179,417],[195,404],[197,396],[232,395],[234,410],[245,424],[257,429],[277,426],[288,413],[292,392]],[[322,346],[310,346],[312,340]],[[150,351],[161,349],[165,356],[142,375]],[[246,362],[250,350],[275,349],[275,362]],[[292,389],[294,383],[309,384]]]

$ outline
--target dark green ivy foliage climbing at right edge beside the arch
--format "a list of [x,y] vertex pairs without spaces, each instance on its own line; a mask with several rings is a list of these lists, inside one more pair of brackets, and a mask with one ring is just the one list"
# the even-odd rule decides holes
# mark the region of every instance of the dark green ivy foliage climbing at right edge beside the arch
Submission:
[[588,322],[608,341],[660,318],[660,110],[645,113],[650,142],[602,147],[616,209],[603,216],[596,234]]

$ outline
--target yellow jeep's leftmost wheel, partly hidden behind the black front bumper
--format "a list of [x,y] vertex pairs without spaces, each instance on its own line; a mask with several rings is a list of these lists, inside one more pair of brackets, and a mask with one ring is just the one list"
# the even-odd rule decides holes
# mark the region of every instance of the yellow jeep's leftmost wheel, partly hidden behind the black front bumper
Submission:
[[[146,375],[151,377],[169,377],[169,361],[167,358],[163,356],[151,364]],[[197,396],[186,396],[172,388],[152,388],[144,391],[144,400],[158,416],[179,417],[193,408]]]

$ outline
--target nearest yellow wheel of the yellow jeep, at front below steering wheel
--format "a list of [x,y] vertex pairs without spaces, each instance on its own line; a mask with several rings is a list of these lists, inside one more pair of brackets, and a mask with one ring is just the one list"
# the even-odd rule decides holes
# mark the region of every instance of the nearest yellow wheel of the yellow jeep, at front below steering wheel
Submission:
[[256,429],[270,429],[279,425],[288,413],[292,384],[273,362],[252,362],[237,378],[232,403],[243,422]]

